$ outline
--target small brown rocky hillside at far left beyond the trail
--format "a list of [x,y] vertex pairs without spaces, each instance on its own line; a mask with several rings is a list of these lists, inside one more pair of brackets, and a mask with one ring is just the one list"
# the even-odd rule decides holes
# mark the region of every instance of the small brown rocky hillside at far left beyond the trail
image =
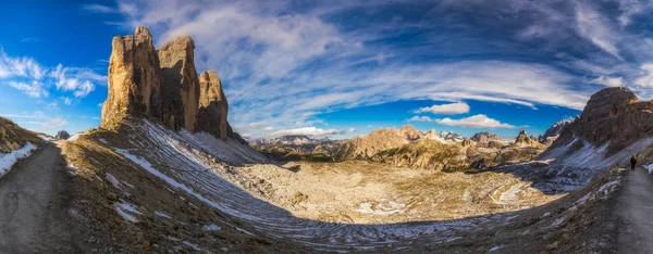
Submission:
[[37,134],[23,129],[10,119],[0,117],[0,153],[10,153],[21,149],[26,142],[40,144]]

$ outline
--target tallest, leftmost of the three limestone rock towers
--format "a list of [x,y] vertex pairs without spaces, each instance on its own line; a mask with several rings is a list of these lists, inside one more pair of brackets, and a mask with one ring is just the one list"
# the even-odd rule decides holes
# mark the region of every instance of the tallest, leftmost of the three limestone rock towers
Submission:
[[161,73],[149,30],[139,26],[134,35],[116,36],[112,47],[100,127],[116,129],[127,115],[160,118]]

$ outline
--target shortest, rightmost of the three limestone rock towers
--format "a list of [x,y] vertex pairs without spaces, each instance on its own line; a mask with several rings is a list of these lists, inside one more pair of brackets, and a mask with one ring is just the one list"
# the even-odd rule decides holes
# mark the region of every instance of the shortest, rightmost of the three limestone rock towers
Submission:
[[229,128],[226,116],[229,103],[222,91],[222,82],[215,72],[204,72],[199,76],[199,113],[197,130],[207,131],[220,139],[226,139]]

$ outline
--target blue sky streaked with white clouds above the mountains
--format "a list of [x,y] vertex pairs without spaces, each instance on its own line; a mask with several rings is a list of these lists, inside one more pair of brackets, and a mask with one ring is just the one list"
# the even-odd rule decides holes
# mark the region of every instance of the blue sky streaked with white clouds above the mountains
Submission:
[[593,92],[653,96],[653,3],[34,1],[2,3],[0,115],[48,134],[99,125],[111,38],[189,35],[229,120],[254,137],[347,138],[410,124],[540,135]]

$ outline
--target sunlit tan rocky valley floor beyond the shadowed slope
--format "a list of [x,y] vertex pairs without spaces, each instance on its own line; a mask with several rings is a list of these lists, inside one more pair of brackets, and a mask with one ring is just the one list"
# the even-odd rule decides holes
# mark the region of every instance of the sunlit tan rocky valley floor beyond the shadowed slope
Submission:
[[[445,220],[549,203],[513,174],[442,173],[350,161],[234,168],[234,182],[303,218],[356,224]],[[254,179],[254,182],[251,181]]]

